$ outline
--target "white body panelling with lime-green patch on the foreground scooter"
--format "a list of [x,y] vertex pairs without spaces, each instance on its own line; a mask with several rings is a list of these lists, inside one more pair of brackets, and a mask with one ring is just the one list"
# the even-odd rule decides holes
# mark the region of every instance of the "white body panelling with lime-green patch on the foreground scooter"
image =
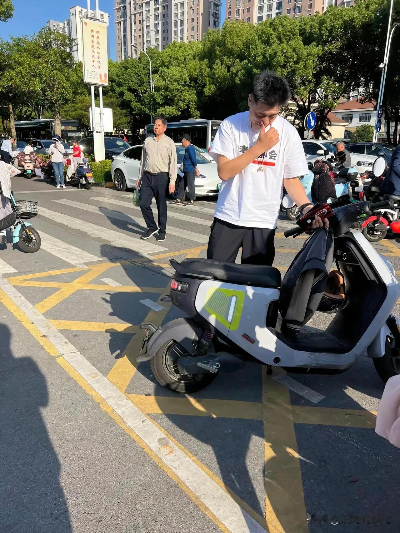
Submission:
[[[344,369],[353,364],[372,343],[368,351],[369,356],[381,357],[384,353],[381,353],[382,338],[387,333],[386,320],[400,297],[400,285],[393,266],[386,257],[379,255],[361,232],[351,232],[388,288],[385,301],[377,309],[371,324],[351,351],[324,353],[294,350],[283,338],[277,337],[275,330],[266,326],[268,306],[279,298],[279,290],[276,288],[206,280],[198,287],[196,310],[223,335],[268,365]],[[274,363],[276,357],[279,361]]]

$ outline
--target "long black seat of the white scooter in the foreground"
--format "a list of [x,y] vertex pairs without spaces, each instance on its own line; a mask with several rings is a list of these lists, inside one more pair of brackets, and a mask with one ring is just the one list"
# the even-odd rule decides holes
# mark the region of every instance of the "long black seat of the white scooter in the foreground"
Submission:
[[[179,273],[195,276],[211,276],[219,281],[253,285],[254,287],[280,287],[281,272],[274,266],[222,263],[213,259],[184,259]],[[184,272],[183,272],[184,271]]]

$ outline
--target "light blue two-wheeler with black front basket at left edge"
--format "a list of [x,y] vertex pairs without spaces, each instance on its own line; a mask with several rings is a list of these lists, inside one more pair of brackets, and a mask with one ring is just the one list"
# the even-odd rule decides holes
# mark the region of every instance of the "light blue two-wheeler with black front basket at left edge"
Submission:
[[9,217],[3,219],[3,221],[7,220],[7,224],[11,222],[6,228],[4,228],[4,223],[1,225],[3,221],[0,221],[0,244],[5,244],[7,242],[6,229],[9,228],[12,232],[12,243],[18,243],[22,252],[27,252],[29,254],[37,252],[42,244],[41,236],[30,222],[24,222],[22,220],[31,219],[38,214],[37,202],[29,200],[15,201],[12,193],[10,200],[13,214],[15,216],[11,217],[9,215],[10,219]]

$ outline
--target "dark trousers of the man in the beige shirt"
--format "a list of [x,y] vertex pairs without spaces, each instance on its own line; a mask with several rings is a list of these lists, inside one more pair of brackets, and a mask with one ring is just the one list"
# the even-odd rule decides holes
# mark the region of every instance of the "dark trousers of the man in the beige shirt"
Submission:
[[156,199],[158,211],[158,228],[161,233],[166,229],[166,188],[169,174],[160,172],[159,174],[149,174],[145,172],[140,184],[140,209],[145,219],[147,229],[156,230],[153,211],[151,211],[151,200]]

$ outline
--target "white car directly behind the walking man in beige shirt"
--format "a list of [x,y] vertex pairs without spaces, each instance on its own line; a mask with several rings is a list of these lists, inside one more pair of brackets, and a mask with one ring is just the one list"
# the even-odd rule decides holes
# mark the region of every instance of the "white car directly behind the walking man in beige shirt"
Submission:
[[[185,148],[179,143],[175,143],[175,146],[177,148],[178,176],[182,176],[179,166],[182,163],[183,155],[185,155]],[[136,188],[142,148],[143,144],[127,148],[111,161],[111,175],[118,191]],[[196,146],[194,148],[200,171],[200,175],[196,176],[195,179],[196,196],[218,195],[221,180],[218,176],[217,163],[200,148]]]

